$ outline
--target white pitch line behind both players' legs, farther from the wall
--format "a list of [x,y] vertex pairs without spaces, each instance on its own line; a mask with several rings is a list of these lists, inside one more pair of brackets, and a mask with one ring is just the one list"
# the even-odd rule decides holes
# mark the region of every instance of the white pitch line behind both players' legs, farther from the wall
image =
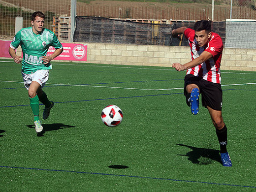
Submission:
[[[9,83],[23,83],[21,81],[0,81],[0,82],[9,82]],[[240,84],[228,84],[222,86],[237,86],[237,85],[254,85],[256,83],[240,83]],[[110,87],[110,86],[97,86],[97,85],[72,85],[72,84],[59,84],[59,83],[47,83],[46,85],[63,85],[63,86],[78,86],[78,87],[101,87],[101,88],[114,88],[114,89],[132,89],[132,90],[149,90],[149,91],[166,91],[166,90],[178,90],[184,89],[183,87],[179,88],[167,88],[167,89],[143,89],[143,88],[129,88],[129,87]]]

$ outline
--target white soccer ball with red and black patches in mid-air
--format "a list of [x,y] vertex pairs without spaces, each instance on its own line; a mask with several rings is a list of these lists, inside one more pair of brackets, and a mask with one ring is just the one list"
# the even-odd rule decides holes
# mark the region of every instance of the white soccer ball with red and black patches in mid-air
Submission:
[[123,120],[123,112],[116,105],[108,105],[101,112],[101,120],[108,127],[116,127]]

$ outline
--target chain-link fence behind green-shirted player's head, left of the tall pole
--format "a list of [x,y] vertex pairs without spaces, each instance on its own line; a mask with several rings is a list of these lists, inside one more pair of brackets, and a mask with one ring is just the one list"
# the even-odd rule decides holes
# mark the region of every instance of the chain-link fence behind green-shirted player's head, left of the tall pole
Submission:
[[23,28],[31,27],[34,11],[45,14],[45,28],[53,29],[54,16],[70,16],[70,0],[0,0],[0,38],[15,35],[15,18],[23,18]]

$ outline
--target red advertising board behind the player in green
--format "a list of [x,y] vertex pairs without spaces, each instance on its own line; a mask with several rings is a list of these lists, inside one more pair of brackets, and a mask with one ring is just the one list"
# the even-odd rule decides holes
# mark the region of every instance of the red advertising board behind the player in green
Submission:
[[[8,49],[11,41],[0,40],[0,57],[11,58],[8,53]],[[61,55],[56,57],[54,60],[65,60],[65,61],[87,61],[87,45],[73,44],[73,43],[62,43],[63,52]],[[47,52],[47,56],[50,56],[55,51],[55,48],[50,46]]]

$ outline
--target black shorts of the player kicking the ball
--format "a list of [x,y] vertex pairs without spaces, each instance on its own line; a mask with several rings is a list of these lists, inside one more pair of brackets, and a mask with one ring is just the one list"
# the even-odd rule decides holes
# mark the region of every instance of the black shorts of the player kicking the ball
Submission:
[[212,83],[192,74],[188,74],[184,79],[184,95],[187,96],[186,87],[195,84],[199,87],[202,96],[202,105],[209,106],[214,110],[222,110],[222,87],[219,83]]

